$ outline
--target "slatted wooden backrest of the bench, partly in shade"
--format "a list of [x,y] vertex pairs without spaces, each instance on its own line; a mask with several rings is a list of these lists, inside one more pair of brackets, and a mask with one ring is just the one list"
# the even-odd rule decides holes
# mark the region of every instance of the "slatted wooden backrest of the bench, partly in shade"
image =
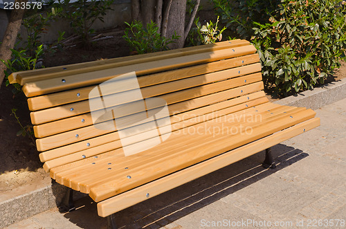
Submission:
[[178,124],[172,131],[192,116],[268,101],[258,54],[244,40],[13,73],[10,82],[23,85],[28,97],[46,171],[122,147],[118,131],[93,125],[89,93],[133,71],[143,98],[167,102],[171,122]]

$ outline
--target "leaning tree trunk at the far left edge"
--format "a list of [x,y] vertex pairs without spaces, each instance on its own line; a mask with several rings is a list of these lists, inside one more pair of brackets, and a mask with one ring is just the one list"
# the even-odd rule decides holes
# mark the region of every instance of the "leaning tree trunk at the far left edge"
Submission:
[[[27,0],[16,0],[16,2],[19,3],[26,1]],[[21,26],[21,20],[23,19],[24,12],[25,10],[22,9],[12,10],[5,35],[3,36],[3,41],[0,46],[0,59],[3,59],[5,61],[11,59],[12,52],[10,51],[10,49],[15,46],[17,34]],[[3,78],[5,77],[5,73],[3,71],[6,71],[6,66],[2,62],[0,62],[0,86],[3,82]]]

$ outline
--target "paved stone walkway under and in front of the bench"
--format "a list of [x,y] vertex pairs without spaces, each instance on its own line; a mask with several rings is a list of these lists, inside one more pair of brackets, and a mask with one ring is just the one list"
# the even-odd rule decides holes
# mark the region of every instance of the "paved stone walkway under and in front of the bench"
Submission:
[[[273,147],[275,170],[260,166],[261,152],[118,212],[118,226],[346,228],[346,99],[318,109],[317,116],[320,127]],[[74,212],[53,209],[8,228],[107,227],[89,196],[76,205]]]

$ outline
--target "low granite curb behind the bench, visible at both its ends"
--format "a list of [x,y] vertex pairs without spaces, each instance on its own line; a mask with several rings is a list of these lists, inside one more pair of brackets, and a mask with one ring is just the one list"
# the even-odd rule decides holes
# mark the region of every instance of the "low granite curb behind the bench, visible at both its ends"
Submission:
[[[282,100],[277,100],[275,103],[318,109],[343,98],[346,98],[346,78],[318,87],[313,89],[313,91],[304,91],[299,95],[292,95]],[[65,192],[66,187],[54,183],[53,185],[47,185],[33,192],[3,201],[0,203],[0,228],[51,208],[56,208],[61,203]],[[75,195],[74,199],[80,199],[82,196],[85,196],[85,194]]]

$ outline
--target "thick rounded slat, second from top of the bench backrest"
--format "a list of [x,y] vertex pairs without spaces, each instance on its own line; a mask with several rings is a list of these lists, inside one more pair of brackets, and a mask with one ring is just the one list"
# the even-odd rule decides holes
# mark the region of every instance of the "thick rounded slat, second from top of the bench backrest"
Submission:
[[[233,51],[234,50],[234,51]],[[100,71],[92,71],[75,75],[67,75],[66,77],[57,77],[49,80],[41,80],[24,84],[23,91],[27,97],[44,95],[57,91],[66,91],[82,86],[92,84],[100,84],[118,75],[129,72],[136,72],[136,75],[147,75],[158,73],[160,71],[168,71],[174,68],[183,68],[196,64],[206,64],[221,59],[250,55],[256,52],[256,48],[252,45],[232,48],[231,51],[223,49],[219,51],[198,53],[183,57],[173,57],[170,59],[157,59],[152,62],[140,64],[131,64],[128,66],[120,66],[118,68],[108,68]],[[64,82],[62,82],[64,81]]]

